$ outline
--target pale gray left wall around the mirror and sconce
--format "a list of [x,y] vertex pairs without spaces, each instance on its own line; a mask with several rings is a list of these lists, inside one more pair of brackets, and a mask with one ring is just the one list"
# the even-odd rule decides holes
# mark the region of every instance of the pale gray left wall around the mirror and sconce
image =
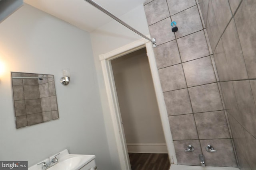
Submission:
[[[0,23],[0,37],[0,160],[31,166],[68,149],[112,170],[89,33],[25,4]],[[62,68],[70,68],[68,86]],[[54,74],[60,119],[16,129],[11,71]]]

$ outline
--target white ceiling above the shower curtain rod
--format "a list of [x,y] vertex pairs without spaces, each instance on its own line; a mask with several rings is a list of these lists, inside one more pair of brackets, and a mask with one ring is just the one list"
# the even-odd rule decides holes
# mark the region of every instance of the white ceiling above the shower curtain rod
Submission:
[[[94,0],[116,17],[136,8],[144,1]],[[24,0],[24,2],[88,32],[113,20],[85,0]]]

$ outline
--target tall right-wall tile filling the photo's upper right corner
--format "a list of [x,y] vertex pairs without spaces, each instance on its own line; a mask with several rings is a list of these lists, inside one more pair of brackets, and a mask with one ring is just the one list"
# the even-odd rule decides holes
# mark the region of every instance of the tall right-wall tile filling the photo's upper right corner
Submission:
[[244,0],[239,7],[235,20],[240,43],[249,78],[256,78],[256,3],[254,0]]

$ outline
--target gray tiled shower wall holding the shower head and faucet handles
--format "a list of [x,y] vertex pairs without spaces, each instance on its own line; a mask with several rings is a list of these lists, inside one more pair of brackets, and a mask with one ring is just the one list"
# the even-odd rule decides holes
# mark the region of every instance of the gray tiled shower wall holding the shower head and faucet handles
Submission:
[[[203,153],[206,166],[237,166],[198,1],[148,0],[144,9],[158,45],[154,52],[178,164],[200,165]],[[176,33],[172,21],[179,28]],[[195,150],[185,152],[188,145]],[[217,152],[207,152],[206,145]]]

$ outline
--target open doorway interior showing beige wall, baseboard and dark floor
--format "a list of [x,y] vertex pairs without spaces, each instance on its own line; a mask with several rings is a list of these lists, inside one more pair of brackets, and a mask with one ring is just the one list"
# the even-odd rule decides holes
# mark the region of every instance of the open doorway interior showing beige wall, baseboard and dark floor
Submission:
[[111,65],[132,170],[169,170],[146,48],[118,57]]

